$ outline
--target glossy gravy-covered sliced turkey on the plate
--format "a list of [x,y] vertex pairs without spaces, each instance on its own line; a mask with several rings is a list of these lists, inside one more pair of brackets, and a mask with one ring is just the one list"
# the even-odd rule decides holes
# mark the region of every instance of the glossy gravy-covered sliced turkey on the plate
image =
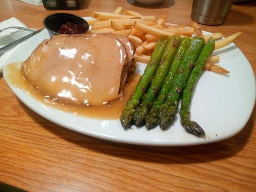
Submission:
[[43,41],[22,70],[54,100],[102,105],[121,96],[130,59],[122,42],[104,34],[55,36]]

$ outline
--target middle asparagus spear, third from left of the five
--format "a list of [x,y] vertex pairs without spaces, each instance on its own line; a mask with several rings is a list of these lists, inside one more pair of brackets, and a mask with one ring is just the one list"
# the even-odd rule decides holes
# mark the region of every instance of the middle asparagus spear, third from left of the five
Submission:
[[152,129],[158,124],[158,108],[165,102],[167,94],[169,92],[171,82],[173,80],[174,74],[177,71],[177,68],[183,58],[183,55],[185,53],[185,50],[187,48],[188,43],[191,41],[190,37],[183,37],[181,40],[181,43],[179,47],[177,48],[177,51],[175,53],[175,56],[172,60],[171,67],[169,69],[169,72],[164,80],[164,84],[161,87],[161,90],[158,94],[157,99],[154,101],[152,108],[150,109],[149,113],[146,116],[145,124],[146,128]]

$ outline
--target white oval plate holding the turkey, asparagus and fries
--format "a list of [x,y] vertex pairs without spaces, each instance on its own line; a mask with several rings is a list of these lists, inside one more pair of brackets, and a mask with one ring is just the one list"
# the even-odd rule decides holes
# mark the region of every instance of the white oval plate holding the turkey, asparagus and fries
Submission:
[[[12,54],[6,64],[26,60],[37,45],[47,38],[49,34],[46,29],[31,37]],[[5,72],[3,76],[13,93],[28,108],[47,120],[75,132],[128,144],[158,146],[207,144],[230,138],[240,132],[251,116],[256,98],[254,72],[240,49],[232,43],[213,54],[220,56],[218,65],[229,70],[230,74],[203,72],[196,85],[191,105],[191,118],[205,130],[204,138],[185,132],[178,114],[167,131],[161,131],[159,127],[147,131],[145,127],[135,126],[131,130],[124,131],[119,120],[97,120],[75,116],[43,105],[10,84]],[[137,71],[142,74],[145,67],[145,64],[139,63]]]

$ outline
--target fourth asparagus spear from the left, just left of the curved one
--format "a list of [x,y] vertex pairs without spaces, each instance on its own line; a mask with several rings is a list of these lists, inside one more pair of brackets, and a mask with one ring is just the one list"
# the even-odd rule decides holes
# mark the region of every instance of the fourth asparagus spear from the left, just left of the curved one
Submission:
[[193,37],[182,58],[181,64],[177,69],[171,84],[170,91],[165,103],[158,110],[158,123],[162,130],[174,120],[174,114],[178,108],[182,90],[186,84],[189,73],[195,65],[195,60],[201,52],[205,40],[202,37]]

